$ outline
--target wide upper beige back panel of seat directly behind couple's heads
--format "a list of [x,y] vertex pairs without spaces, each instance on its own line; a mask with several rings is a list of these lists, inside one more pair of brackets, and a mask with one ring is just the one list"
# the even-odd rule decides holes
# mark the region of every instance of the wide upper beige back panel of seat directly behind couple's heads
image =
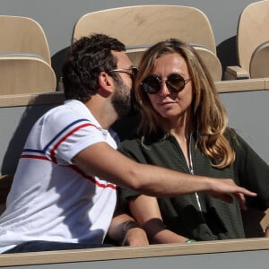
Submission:
[[92,33],[117,38],[126,48],[177,38],[216,53],[210,22],[202,11],[190,6],[136,5],[86,13],[74,25],[73,41]]

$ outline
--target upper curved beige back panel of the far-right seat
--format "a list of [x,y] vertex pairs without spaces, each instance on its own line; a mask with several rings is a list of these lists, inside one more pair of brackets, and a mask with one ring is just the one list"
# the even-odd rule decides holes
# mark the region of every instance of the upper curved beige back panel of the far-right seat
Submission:
[[[249,74],[253,53],[261,44],[269,40],[268,25],[269,0],[247,5],[239,16],[237,34],[239,65]],[[254,67],[252,72],[254,72]],[[252,78],[251,74],[250,77]]]

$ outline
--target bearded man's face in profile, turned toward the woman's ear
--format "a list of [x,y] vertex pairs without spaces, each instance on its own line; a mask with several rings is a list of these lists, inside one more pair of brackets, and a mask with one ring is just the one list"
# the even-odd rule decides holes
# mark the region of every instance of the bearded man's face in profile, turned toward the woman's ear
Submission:
[[[117,57],[117,68],[133,66],[125,52],[112,52]],[[128,114],[131,109],[131,91],[133,88],[132,75],[129,72],[117,72],[115,80],[115,92],[112,97],[112,105],[119,118]]]

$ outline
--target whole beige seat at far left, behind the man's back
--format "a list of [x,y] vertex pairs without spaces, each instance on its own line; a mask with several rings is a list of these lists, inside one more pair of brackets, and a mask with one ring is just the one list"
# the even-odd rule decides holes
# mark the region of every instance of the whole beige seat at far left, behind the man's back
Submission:
[[0,95],[56,91],[48,40],[39,22],[0,15]]

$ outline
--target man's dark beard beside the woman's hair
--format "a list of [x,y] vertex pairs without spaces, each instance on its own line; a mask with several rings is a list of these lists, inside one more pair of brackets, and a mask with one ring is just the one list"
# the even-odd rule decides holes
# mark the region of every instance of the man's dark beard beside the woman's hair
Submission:
[[126,116],[131,109],[131,89],[121,78],[116,81],[116,92],[112,98],[112,105],[118,118]]

